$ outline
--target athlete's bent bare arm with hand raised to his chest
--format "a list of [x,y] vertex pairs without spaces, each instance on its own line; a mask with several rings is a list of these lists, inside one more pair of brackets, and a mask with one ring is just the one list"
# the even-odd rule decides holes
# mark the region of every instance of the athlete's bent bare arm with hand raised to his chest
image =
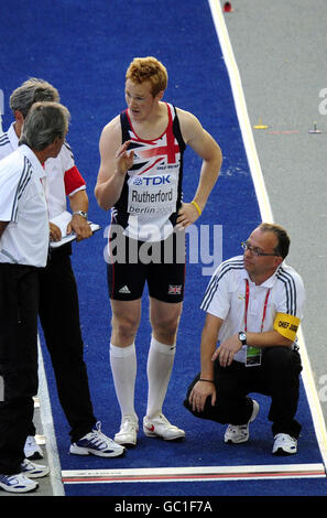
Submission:
[[129,141],[121,144],[120,117],[112,119],[102,130],[99,150],[100,169],[95,195],[101,208],[108,211],[119,199],[126,173],[133,165],[133,151]]

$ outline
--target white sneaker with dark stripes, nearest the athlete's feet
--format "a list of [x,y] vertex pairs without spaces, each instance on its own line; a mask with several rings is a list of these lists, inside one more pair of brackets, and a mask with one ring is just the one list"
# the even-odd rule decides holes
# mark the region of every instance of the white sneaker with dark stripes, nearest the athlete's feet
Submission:
[[69,453],[75,455],[92,454],[100,457],[117,457],[122,455],[123,452],[123,446],[117,444],[101,432],[100,421],[97,422],[96,428],[91,432],[70,444],[69,447]]

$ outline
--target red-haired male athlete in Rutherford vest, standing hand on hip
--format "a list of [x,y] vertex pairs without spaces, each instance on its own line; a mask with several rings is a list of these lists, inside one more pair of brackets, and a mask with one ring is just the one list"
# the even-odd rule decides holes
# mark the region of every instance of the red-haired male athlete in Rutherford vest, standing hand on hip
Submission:
[[[139,430],[134,339],[145,281],[152,337],[143,431],[146,436],[164,440],[185,436],[184,430],[162,413],[184,295],[185,245],[181,260],[178,236],[200,216],[221,166],[220,148],[197,118],[162,100],[166,86],[167,72],[162,63],[154,57],[134,58],[126,75],[127,109],[103,128],[99,143],[101,163],[95,194],[100,207],[112,208],[108,261],[110,365],[121,409],[121,427],[115,441],[127,446],[137,444]],[[182,202],[186,144],[203,159],[190,203]],[[144,244],[149,246],[148,255]]]

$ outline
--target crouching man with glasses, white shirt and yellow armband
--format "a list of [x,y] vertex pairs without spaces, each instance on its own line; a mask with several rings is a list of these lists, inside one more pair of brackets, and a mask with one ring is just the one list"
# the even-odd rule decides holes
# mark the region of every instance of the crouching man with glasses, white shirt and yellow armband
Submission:
[[272,453],[290,455],[297,452],[301,431],[296,331],[304,285],[284,262],[290,238],[281,226],[263,223],[241,246],[243,256],[222,262],[206,290],[200,373],[184,406],[195,417],[228,423],[225,442],[240,444],[249,440],[249,423],[259,412],[248,395],[270,396]]

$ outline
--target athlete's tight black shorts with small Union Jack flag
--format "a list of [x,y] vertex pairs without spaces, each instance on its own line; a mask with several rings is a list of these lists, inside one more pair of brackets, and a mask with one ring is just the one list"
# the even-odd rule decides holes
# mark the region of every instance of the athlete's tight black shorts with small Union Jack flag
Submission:
[[182,302],[185,284],[185,234],[182,234],[174,233],[155,242],[124,236],[120,250],[118,247],[110,250],[107,266],[110,299],[141,299],[146,281],[150,296],[162,302]]

